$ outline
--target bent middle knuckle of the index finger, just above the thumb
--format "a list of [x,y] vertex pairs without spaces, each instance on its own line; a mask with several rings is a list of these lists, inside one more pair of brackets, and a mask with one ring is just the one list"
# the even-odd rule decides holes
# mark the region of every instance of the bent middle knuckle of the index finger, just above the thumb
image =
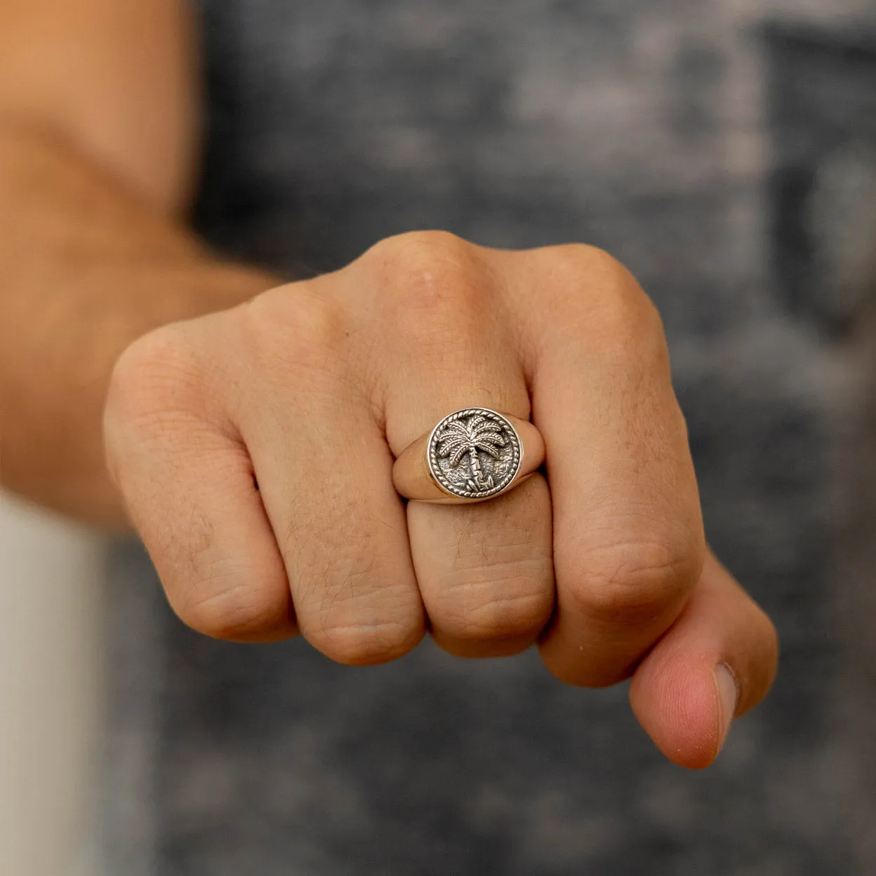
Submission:
[[581,614],[629,626],[675,613],[700,575],[703,548],[689,538],[654,537],[590,548],[563,590]]

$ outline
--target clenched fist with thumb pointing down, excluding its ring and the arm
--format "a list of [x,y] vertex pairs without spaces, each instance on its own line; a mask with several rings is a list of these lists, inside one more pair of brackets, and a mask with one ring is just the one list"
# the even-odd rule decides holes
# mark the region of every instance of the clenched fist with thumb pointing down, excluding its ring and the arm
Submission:
[[[405,505],[393,458],[478,405],[532,418],[547,477]],[[660,318],[601,251],[393,237],[134,343],[105,435],[173,609],[208,635],[300,631],[349,664],[427,627],[467,657],[537,642],[563,682],[634,673],[640,722],[689,767],[772,682],[772,625],[707,555]]]

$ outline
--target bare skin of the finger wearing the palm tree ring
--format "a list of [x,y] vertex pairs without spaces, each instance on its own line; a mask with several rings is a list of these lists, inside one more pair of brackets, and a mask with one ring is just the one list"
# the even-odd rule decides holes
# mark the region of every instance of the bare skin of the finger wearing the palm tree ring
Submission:
[[[527,420],[518,356],[489,307],[489,272],[468,244],[416,251],[383,298],[392,302],[385,397],[395,456],[446,414],[483,405]],[[394,330],[393,330],[394,329]],[[400,364],[400,366],[399,366]],[[464,465],[472,465],[466,458]],[[473,505],[407,505],[411,555],[434,640],[466,657],[517,653],[533,644],[554,605],[548,484],[535,474]]]

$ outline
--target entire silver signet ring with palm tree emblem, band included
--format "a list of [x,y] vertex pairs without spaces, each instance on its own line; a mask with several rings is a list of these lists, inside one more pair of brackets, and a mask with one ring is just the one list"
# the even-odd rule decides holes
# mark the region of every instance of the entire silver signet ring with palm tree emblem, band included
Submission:
[[544,455],[532,423],[488,407],[464,407],[402,452],[392,483],[420,502],[483,502],[532,475]]

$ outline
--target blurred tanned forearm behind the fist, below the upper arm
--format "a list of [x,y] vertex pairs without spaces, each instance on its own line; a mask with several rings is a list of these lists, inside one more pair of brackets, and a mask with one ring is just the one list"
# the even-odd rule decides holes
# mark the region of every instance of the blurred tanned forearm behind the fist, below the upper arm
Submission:
[[0,125],[0,483],[105,526],[109,374],[135,338],[277,280],[212,258],[49,131]]

